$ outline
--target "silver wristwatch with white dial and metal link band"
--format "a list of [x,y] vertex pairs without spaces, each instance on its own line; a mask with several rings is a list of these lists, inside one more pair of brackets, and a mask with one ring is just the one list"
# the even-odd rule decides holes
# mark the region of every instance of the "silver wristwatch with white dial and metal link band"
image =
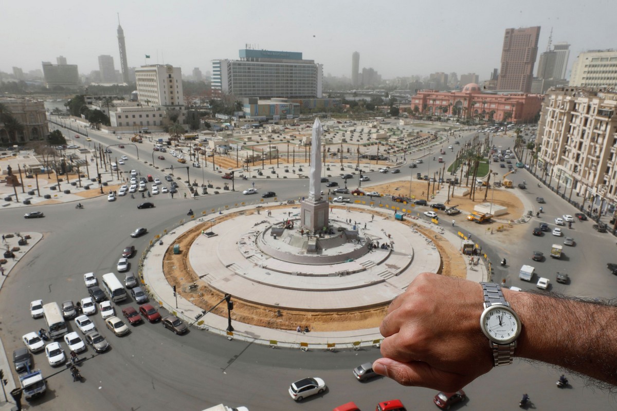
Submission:
[[512,364],[516,339],[521,333],[521,320],[505,301],[501,287],[495,283],[480,283],[484,295],[484,311],[480,328],[489,339],[495,367]]

